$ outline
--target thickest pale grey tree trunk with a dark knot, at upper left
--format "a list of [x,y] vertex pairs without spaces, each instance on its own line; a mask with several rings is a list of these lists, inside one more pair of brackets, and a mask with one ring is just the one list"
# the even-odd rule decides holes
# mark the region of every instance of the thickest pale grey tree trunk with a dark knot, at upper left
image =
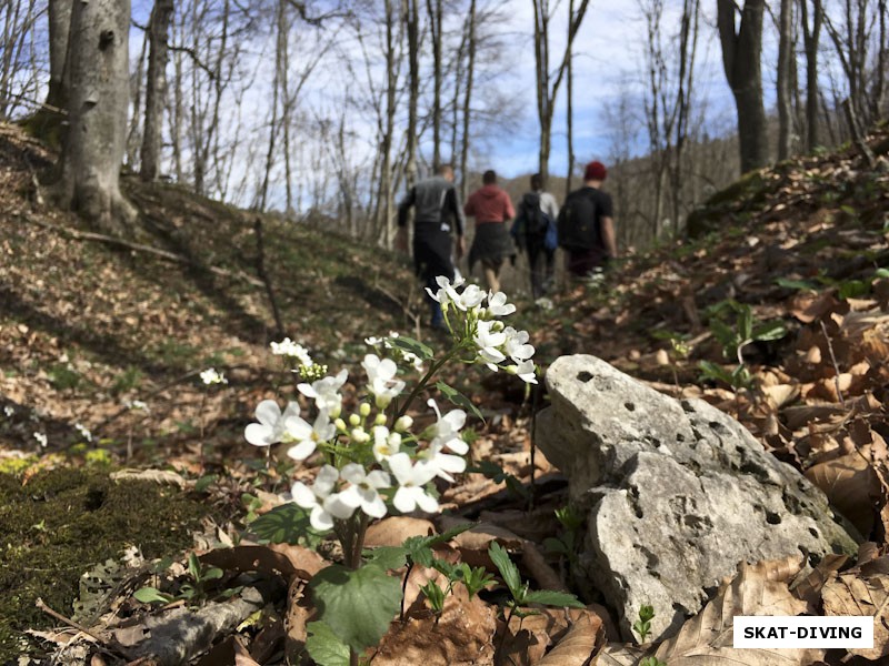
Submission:
[[120,232],[136,211],[120,193],[129,102],[129,0],[76,2],[68,71],[70,128],[60,158],[60,202],[102,231]]

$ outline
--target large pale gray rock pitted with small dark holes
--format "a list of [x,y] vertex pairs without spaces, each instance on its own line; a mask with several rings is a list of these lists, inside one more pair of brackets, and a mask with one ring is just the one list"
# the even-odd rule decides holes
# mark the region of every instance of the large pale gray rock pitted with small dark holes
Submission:
[[857,545],[823,494],[737,421],[677,401],[588,355],[547,371],[536,441],[588,512],[581,577],[622,615],[651,604],[653,637],[681,626],[739,562]]

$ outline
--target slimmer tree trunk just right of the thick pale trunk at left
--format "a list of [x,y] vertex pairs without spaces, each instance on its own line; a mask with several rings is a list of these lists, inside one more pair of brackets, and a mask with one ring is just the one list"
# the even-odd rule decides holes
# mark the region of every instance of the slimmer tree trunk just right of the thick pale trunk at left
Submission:
[[146,123],[142,130],[141,169],[143,181],[157,180],[163,137],[163,99],[167,92],[167,40],[173,17],[173,0],[154,0],[148,24],[150,50],[146,80]]

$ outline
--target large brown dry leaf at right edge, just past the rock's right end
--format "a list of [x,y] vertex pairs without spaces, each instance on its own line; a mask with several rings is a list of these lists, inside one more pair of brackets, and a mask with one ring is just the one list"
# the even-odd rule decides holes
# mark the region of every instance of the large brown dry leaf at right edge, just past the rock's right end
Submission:
[[806,471],[806,478],[821,488],[865,537],[870,534],[875,522],[872,498],[879,497],[879,482],[865,456],[856,452],[819,463]]

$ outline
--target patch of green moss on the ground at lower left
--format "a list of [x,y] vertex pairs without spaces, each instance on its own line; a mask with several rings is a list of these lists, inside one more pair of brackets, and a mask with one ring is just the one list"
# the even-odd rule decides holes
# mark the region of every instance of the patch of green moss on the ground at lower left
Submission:
[[177,488],[116,483],[96,470],[0,474],[0,663],[21,653],[21,632],[54,624],[37,598],[71,615],[92,565],[137,545],[147,558],[181,552],[207,509]]

